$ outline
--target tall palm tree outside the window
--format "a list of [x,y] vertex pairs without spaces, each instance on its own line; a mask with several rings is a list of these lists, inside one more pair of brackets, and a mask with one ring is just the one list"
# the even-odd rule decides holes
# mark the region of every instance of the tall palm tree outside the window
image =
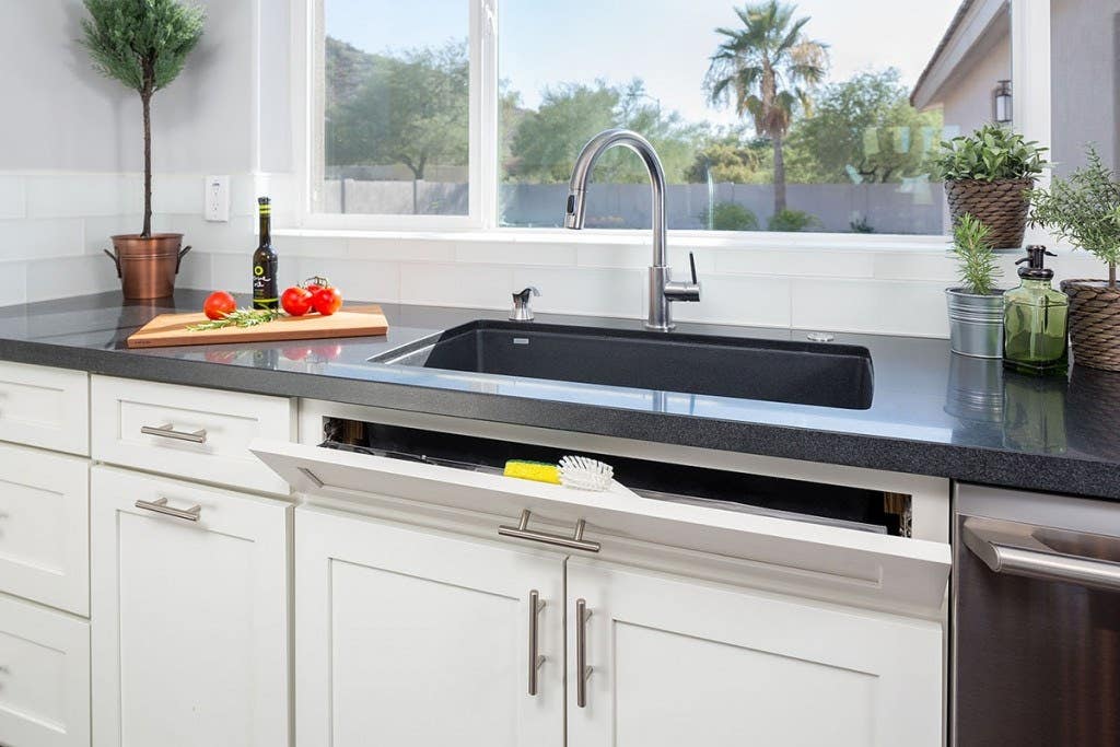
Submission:
[[755,131],[774,146],[774,213],[785,209],[785,160],[782,148],[793,114],[810,108],[809,88],[824,78],[828,45],[804,36],[809,18],[793,19],[797,7],[769,0],[735,8],[740,28],[718,28],[704,78],[713,104],[734,104],[738,116],[750,114]]

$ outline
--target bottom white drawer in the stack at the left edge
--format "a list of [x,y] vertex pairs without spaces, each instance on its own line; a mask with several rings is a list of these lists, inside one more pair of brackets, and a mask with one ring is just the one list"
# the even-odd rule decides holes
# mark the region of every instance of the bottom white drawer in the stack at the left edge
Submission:
[[0,597],[0,744],[88,747],[88,623]]

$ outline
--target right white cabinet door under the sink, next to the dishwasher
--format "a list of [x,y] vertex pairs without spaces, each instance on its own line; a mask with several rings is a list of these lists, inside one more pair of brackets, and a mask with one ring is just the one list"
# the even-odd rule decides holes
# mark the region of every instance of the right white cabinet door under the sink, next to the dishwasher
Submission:
[[568,620],[571,747],[943,744],[936,623],[577,559]]

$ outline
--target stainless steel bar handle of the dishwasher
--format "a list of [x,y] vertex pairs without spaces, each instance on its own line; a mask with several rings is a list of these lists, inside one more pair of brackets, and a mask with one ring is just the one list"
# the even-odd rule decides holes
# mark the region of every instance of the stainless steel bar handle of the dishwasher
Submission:
[[[1021,547],[1009,542],[1006,534],[993,531],[989,524],[995,522],[967,519],[961,536],[965,547],[993,573],[1120,591],[1120,563],[1056,552],[1037,540],[1032,542],[1036,547]],[[1120,540],[1117,542],[1120,544]]]

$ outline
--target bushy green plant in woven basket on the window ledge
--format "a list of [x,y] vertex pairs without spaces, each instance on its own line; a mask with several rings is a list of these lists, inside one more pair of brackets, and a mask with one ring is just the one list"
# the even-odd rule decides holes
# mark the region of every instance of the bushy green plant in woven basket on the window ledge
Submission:
[[1027,225],[1027,192],[1046,160],[1035,141],[996,124],[941,143],[936,166],[953,225],[972,215],[989,228],[992,249],[1018,249]]

